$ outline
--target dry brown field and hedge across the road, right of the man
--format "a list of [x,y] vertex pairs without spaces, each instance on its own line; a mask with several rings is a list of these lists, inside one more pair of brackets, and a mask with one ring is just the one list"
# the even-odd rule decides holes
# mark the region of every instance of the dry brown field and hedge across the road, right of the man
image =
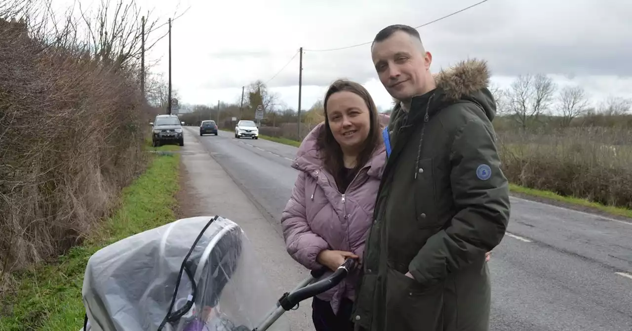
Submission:
[[632,209],[632,131],[498,132],[509,180],[531,189]]

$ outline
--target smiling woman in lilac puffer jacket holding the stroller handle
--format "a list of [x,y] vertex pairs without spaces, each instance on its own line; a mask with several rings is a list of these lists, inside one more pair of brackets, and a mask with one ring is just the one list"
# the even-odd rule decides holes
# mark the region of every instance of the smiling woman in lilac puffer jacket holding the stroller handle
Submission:
[[[386,161],[377,108],[362,85],[334,82],[324,108],[324,123],[296,154],[293,168],[301,172],[281,216],[288,253],[311,270],[362,257]],[[317,331],[353,330],[356,280],[357,272],[313,299]]]

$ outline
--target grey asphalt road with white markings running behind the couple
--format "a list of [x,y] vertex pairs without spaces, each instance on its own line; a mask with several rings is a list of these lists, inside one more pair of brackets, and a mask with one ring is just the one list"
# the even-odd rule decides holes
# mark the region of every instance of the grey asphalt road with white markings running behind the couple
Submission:
[[[280,235],[296,148],[186,129]],[[489,262],[492,330],[632,330],[632,223],[516,197],[511,203],[507,235]]]

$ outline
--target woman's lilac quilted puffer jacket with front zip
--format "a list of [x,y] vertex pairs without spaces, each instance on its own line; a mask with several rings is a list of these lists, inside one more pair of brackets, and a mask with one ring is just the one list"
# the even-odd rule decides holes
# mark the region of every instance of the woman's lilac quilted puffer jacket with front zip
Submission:
[[[353,252],[362,258],[386,163],[386,149],[380,139],[380,146],[346,192],[339,192],[334,178],[324,170],[319,158],[317,137],[324,129],[323,123],[317,125],[296,153],[292,167],[300,173],[281,216],[288,253],[310,270],[322,267],[316,262],[316,256],[326,249]],[[354,299],[357,276],[356,271],[318,298],[330,301],[337,312],[343,297]]]

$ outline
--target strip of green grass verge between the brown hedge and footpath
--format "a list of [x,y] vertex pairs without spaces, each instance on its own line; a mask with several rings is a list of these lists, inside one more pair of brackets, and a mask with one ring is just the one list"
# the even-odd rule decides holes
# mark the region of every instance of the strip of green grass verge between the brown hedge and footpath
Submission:
[[118,210],[83,245],[71,248],[52,264],[13,274],[17,293],[8,298],[10,311],[0,318],[0,330],[81,328],[88,258],[115,241],[175,220],[178,167],[179,154],[154,156],[147,171],[123,190]]

